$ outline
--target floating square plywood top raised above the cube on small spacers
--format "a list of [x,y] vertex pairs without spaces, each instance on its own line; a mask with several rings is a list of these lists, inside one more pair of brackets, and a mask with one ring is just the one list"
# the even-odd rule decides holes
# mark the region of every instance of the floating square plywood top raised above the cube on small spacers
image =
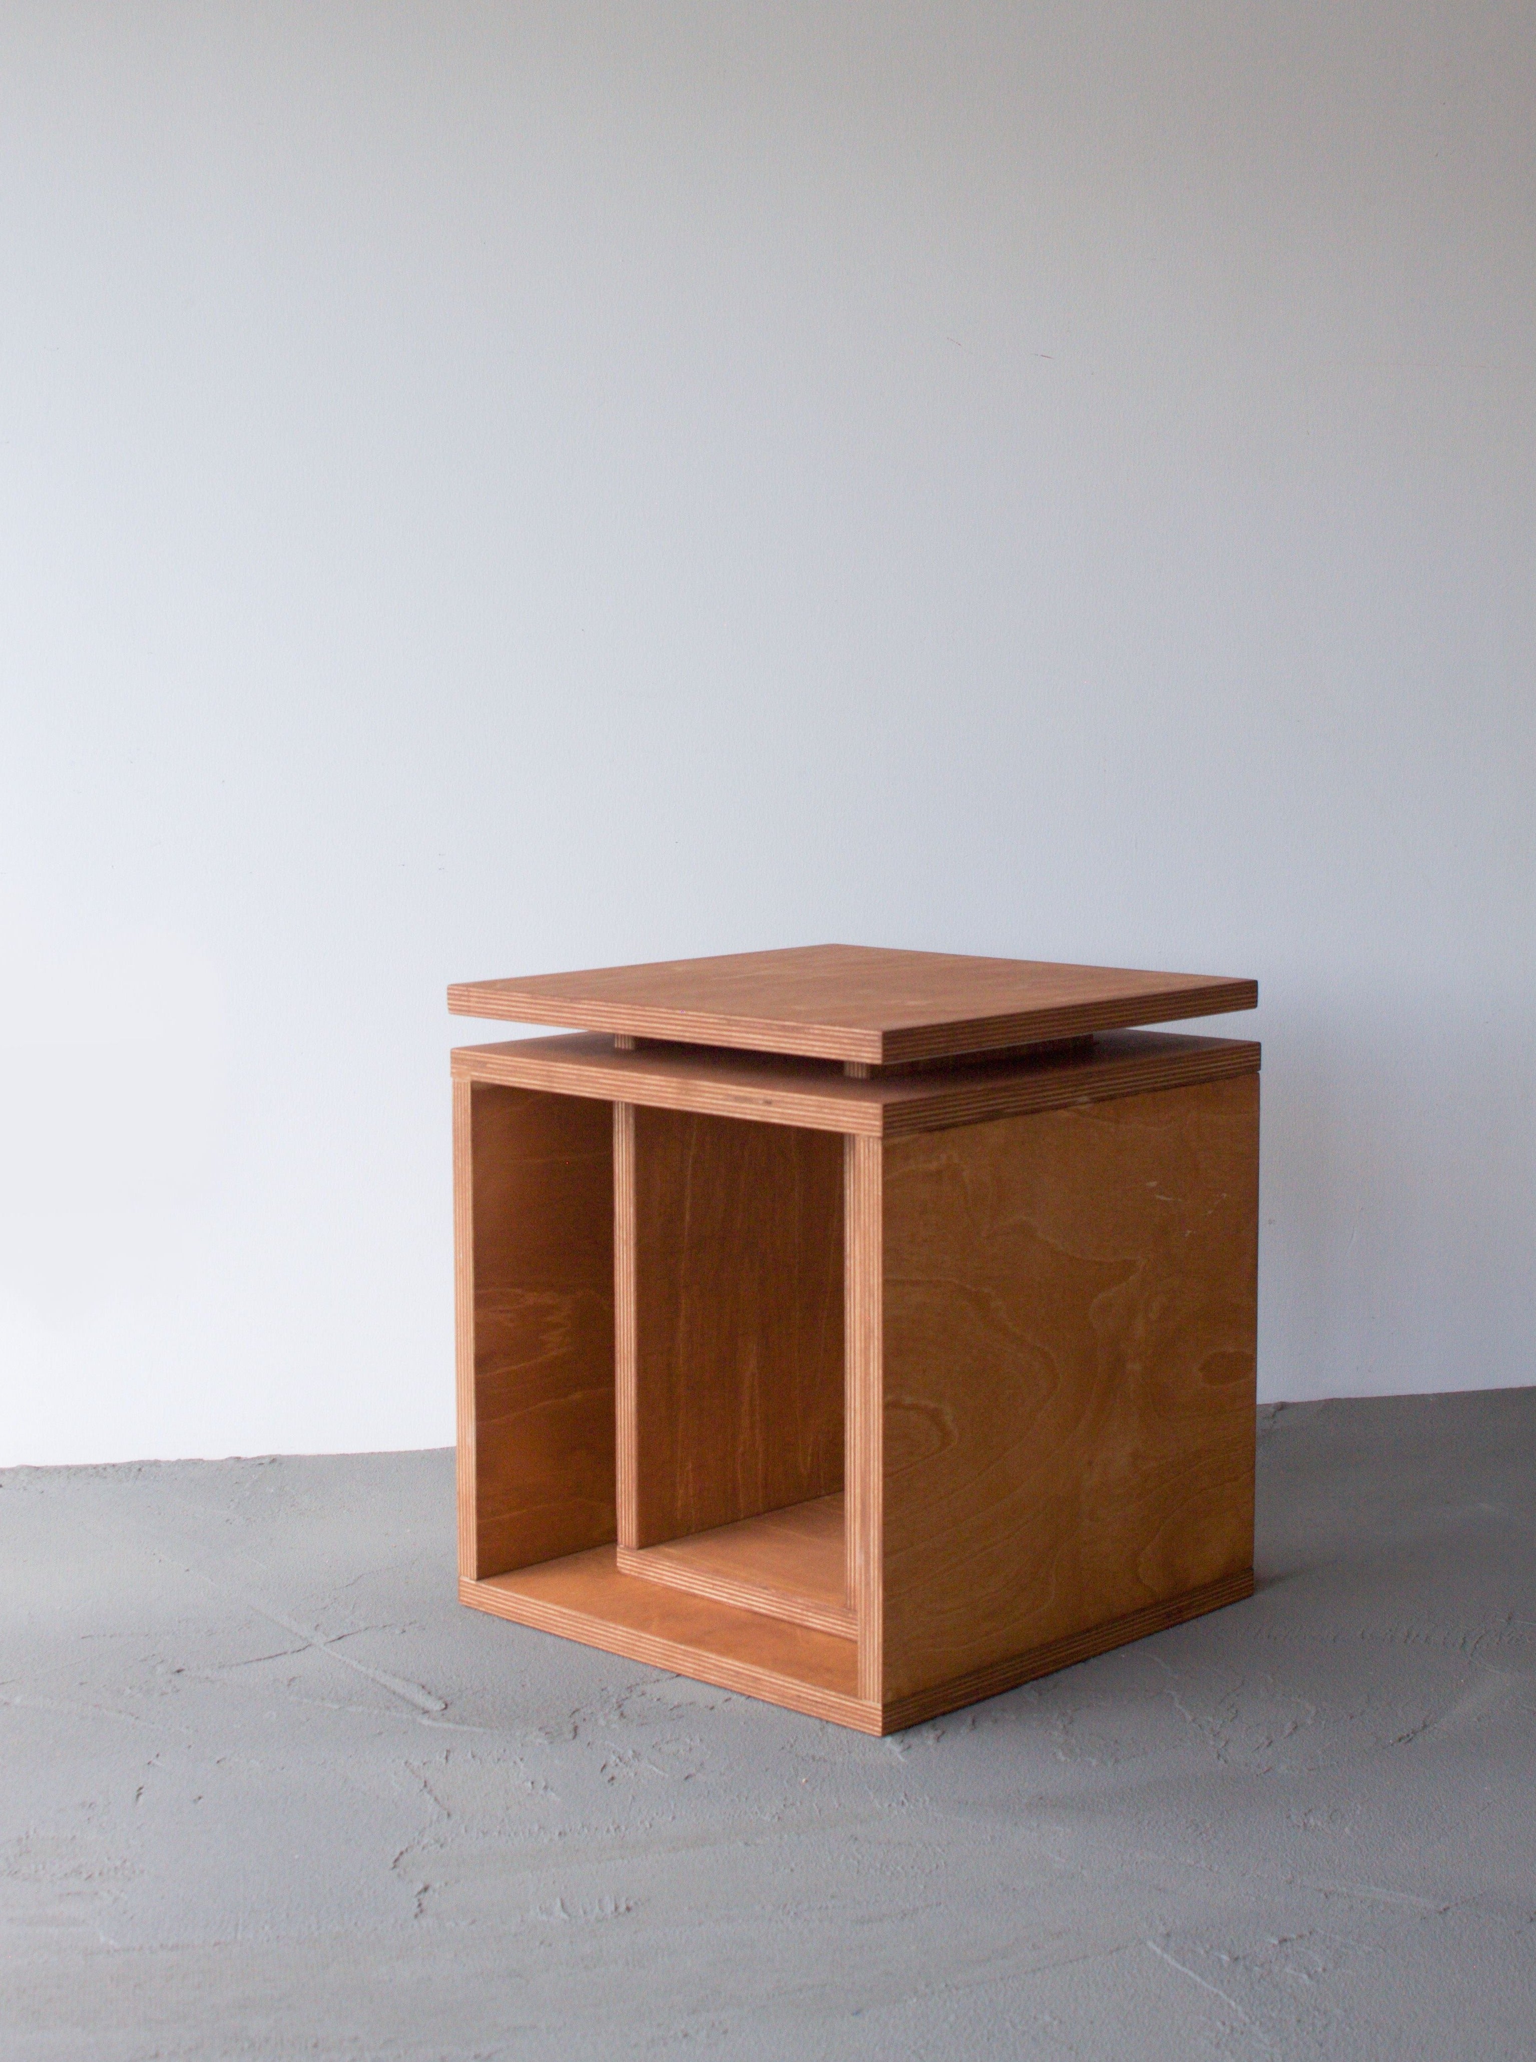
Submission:
[[460,1017],[891,1066],[1128,1025],[1251,1010],[1258,984],[1214,973],[806,944],[643,967],[460,982]]

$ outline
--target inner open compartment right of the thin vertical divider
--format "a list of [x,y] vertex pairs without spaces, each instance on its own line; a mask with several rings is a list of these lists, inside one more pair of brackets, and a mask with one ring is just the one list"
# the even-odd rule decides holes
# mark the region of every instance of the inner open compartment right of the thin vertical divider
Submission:
[[856,1635],[843,1146],[616,1105],[619,1567]]

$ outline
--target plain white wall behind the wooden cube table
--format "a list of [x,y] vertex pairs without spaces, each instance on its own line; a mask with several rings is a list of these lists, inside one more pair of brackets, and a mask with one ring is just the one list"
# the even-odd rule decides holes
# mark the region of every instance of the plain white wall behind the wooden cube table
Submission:
[[0,12],[0,1460],[452,1435],[452,977],[1260,977],[1536,1379],[1528,4]]

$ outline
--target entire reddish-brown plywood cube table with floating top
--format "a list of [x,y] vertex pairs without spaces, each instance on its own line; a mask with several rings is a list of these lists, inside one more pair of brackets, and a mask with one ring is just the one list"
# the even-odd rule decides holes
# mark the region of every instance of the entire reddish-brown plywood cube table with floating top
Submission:
[[472,982],[460,1594],[893,1732],[1254,1588],[1254,982],[808,946]]

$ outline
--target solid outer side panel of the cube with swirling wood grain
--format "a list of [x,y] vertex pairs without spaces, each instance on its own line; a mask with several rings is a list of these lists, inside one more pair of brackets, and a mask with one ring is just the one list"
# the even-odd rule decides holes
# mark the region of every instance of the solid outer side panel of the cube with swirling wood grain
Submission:
[[1239,1594],[1258,1076],[882,1155],[887,1707]]

